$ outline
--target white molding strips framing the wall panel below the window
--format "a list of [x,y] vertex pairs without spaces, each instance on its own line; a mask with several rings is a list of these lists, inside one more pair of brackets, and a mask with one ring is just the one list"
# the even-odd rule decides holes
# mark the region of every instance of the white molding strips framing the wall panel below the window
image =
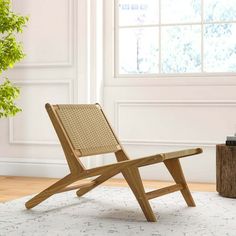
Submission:
[[[122,107],[134,106],[180,106],[180,107],[236,107],[236,100],[116,100],[114,103],[114,121],[115,130],[119,137],[120,125],[119,114]],[[135,140],[121,139],[124,145],[137,146],[202,146],[215,147],[217,143],[222,143],[222,140]]]

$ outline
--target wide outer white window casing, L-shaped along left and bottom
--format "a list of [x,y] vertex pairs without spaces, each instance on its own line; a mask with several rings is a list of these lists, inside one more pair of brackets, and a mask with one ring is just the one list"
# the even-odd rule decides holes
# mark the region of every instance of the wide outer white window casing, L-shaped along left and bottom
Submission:
[[236,73],[164,74],[117,77],[115,73],[115,1],[103,0],[104,89],[150,86],[236,86]]

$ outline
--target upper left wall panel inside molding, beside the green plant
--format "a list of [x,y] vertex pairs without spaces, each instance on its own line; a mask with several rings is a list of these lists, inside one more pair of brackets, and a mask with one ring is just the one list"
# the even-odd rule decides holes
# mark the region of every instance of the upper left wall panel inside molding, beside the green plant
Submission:
[[29,16],[19,37],[27,57],[20,65],[69,65],[72,56],[72,1],[13,1],[13,9]]

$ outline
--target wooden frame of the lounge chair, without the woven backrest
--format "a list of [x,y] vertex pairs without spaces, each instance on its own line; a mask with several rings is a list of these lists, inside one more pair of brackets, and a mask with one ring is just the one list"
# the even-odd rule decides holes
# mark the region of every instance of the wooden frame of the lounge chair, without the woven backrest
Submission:
[[[96,105],[100,107],[99,104]],[[123,174],[129,187],[134,193],[147,221],[156,221],[156,217],[150,206],[149,200],[165,194],[169,194],[175,191],[181,191],[181,194],[183,195],[187,205],[190,207],[195,206],[194,200],[187,186],[179,158],[199,154],[202,152],[201,148],[161,153],[131,160],[125,153],[122,145],[119,143],[120,150],[115,152],[117,163],[86,169],[78,158],[80,157],[78,151],[73,148],[73,145],[70,142],[66,130],[64,129],[56,113],[57,109],[59,109],[58,105],[46,104],[46,110],[62,145],[70,169],[70,173],[64,178],[54,183],[53,185],[51,185],[50,187],[37,194],[36,196],[34,196],[31,200],[27,201],[25,204],[27,209],[35,207],[36,205],[40,204],[41,202],[43,202],[54,194],[74,189],[77,189],[77,196],[81,197],[119,173]],[[111,128],[109,123],[108,125]],[[165,164],[176,184],[146,193],[138,168],[160,162],[163,162]],[[79,183],[76,185],[72,185],[73,183],[79,180],[84,180],[94,176],[98,177],[89,181],[88,183]]]

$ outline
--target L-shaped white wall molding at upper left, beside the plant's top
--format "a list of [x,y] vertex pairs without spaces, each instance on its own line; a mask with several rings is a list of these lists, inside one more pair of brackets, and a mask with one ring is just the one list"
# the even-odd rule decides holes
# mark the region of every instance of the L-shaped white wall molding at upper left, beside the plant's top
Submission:
[[67,61],[65,62],[22,62],[15,65],[15,68],[54,68],[54,67],[72,67],[74,65],[74,31],[76,27],[77,11],[75,11],[74,2],[75,0],[66,1],[68,4],[67,9],[67,28],[68,28],[68,43],[67,43]]

